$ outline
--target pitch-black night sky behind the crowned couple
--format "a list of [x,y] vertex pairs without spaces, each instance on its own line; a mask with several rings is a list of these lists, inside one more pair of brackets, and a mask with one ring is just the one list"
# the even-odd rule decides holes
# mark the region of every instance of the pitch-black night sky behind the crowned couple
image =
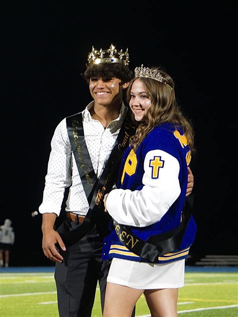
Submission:
[[31,215],[42,201],[50,141],[59,121],[91,101],[80,73],[92,45],[106,49],[111,43],[128,47],[132,69],[142,63],[165,67],[192,119],[198,231],[191,254],[235,254],[235,4],[113,4],[90,3],[82,10],[33,2],[2,12],[0,223],[10,218],[16,231],[12,265],[51,264],[41,250],[41,216]]

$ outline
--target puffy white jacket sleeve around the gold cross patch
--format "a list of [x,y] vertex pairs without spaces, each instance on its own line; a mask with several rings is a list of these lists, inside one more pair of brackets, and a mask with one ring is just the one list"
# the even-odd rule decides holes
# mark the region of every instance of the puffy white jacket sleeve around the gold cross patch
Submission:
[[[164,167],[159,177],[152,177],[150,160],[161,156]],[[106,199],[108,213],[118,223],[144,227],[159,221],[178,198],[181,189],[178,180],[178,160],[163,150],[146,154],[142,190],[114,189]]]

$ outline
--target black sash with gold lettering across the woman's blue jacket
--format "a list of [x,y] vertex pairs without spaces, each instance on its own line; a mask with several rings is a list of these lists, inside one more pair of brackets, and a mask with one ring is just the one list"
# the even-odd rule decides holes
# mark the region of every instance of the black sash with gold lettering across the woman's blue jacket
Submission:
[[[190,197],[191,196],[191,197]],[[171,231],[155,234],[146,241],[141,240],[130,230],[130,226],[117,223],[113,219],[115,232],[121,243],[130,251],[151,263],[158,263],[158,257],[179,249],[184,232],[191,218],[193,195],[186,197],[182,222]]]

